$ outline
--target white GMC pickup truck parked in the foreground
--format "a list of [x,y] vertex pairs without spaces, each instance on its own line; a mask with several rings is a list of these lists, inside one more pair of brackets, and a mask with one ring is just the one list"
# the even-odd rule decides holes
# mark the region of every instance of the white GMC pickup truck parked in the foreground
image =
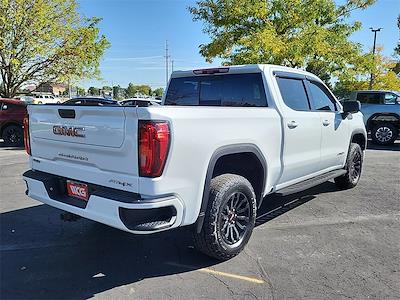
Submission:
[[26,193],[135,234],[192,225],[200,251],[229,259],[268,194],[357,184],[359,109],[273,65],[174,72],[158,106],[32,105]]

